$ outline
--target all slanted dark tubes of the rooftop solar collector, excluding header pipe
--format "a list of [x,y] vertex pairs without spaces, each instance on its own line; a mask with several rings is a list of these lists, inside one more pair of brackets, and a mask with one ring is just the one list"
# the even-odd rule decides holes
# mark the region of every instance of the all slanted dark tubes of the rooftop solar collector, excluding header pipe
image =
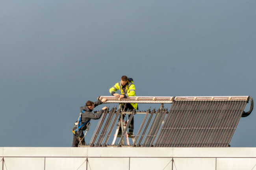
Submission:
[[[169,110],[163,107],[157,111],[148,109],[139,131],[135,134],[135,141],[130,146],[228,147],[247,102],[178,100],[172,102]],[[113,127],[119,122],[119,115],[131,112],[117,110],[115,107],[105,113],[109,114],[104,114],[100,119],[90,147],[108,146]],[[128,121],[127,124],[129,123]],[[124,146],[121,142],[124,133],[117,141],[118,144],[115,144],[117,147]]]

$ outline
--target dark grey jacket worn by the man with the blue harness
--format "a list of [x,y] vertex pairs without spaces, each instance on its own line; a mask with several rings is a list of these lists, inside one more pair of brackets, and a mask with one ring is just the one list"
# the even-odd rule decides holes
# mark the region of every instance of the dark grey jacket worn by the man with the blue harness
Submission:
[[[94,107],[96,107],[97,105],[102,104],[101,100],[97,100],[96,102],[94,102]],[[91,113],[93,110],[89,109],[86,105],[80,107],[81,112],[83,110],[85,110],[85,112],[82,114],[82,118],[81,118],[81,124],[83,124],[84,122],[87,122],[88,120],[91,119],[99,119],[102,115],[102,113],[104,112],[104,110],[100,110],[98,114],[93,114]],[[85,127],[82,127],[82,130],[85,130],[87,127],[85,125]]]

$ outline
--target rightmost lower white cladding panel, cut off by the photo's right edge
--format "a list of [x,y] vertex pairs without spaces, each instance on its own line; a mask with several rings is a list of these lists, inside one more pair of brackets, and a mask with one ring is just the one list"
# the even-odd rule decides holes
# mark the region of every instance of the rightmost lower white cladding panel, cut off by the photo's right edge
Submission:
[[217,158],[217,170],[256,170],[256,158]]

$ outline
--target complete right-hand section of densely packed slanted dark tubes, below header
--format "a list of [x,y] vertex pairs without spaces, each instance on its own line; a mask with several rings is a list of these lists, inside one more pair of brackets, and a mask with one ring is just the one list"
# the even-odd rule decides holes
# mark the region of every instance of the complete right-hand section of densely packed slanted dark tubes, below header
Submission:
[[247,102],[173,102],[154,147],[228,147]]

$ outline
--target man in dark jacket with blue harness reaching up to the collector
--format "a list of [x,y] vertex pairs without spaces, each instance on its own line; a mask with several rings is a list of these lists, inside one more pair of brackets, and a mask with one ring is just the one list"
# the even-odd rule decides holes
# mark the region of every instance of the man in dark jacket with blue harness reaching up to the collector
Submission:
[[[91,119],[99,119],[102,116],[102,113],[104,112],[104,110],[107,109],[107,107],[103,107],[99,111],[98,114],[93,114],[92,111],[93,111],[94,107],[96,107],[97,105],[100,105],[100,104],[102,104],[102,102],[106,102],[106,101],[107,101],[106,98],[102,99],[102,100],[98,100],[94,103],[92,101],[87,101],[86,105],[80,107],[81,113],[83,113],[82,117],[81,117],[81,124],[88,122]],[[74,127],[74,129],[76,129],[76,128],[77,128],[77,126]],[[73,132],[74,132],[74,129],[73,129]],[[82,139],[82,141],[81,141],[82,145],[85,145],[83,131],[86,129],[87,129],[87,124],[85,124],[84,126],[82,126],[79,129],[79,133],[78,133],[78,131],[76,131],[76,133],[74,134],[74,137],[73,137],[72,147],[78,147],[80,139]]]

